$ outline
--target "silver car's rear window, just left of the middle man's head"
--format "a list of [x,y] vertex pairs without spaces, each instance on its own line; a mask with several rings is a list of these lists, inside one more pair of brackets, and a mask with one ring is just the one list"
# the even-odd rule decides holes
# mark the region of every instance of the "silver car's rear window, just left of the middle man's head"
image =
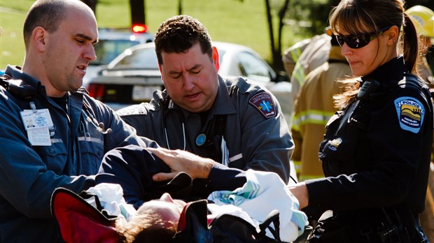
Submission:
[[129,68],[158,69],[155,49],[144,48],[134,50],[131,54],[121,59],[113,68],[122,68],[123,66],[128,66]]

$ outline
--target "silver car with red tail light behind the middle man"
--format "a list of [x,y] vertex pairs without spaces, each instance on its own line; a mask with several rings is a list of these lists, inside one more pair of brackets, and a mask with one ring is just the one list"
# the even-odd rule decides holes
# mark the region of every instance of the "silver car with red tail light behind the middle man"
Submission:
[[[258,53],[244,45],[214,42],[220,58],[218,73],[225,78],[241,76],[267,87],[278,98],[288,119],[291,111],[285,111],[291,99],[288,78],[278,75]],[[118,110],[127,105],[150,101],[155,89],[164,89],[158,70],[154,43],[130,47],[99,71],[90,80],[90,95]]]

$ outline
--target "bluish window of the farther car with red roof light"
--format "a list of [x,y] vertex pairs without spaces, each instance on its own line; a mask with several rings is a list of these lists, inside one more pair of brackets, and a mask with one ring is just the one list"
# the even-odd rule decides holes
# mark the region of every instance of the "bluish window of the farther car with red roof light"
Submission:
[[137,44],[139,44],[139,41],[135,40],[99,40],[94,45],[97,59],[90,62],[90,65],[107,65],[125,49]]

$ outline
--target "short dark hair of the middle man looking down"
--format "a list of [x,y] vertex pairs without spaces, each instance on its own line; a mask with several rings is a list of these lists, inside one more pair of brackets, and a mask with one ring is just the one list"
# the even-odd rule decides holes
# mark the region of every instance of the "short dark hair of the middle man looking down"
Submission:
[[186,52],[196,43],[200,43],[202,53],[212,58],[211,37],[201,22],[188,15],[169,18],[160,25],[155,34],[155,52],[158,63],[162,65],[161,52]]

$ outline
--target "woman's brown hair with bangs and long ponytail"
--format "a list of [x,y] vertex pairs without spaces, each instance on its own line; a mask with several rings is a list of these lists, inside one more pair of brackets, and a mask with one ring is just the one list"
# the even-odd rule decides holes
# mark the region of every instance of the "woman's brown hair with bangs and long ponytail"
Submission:
[[[380,29],[402,27],[398,47],[405,59],[407,71],[417,74],[416,61],[419,56],[419,38],[412,18],[405,13],[402,0],[342,0],[330,12],[330,27],[334,34],[348,33],[360,36],[379,33]],[[348,90],[344,96],[337,96],[337,106],[349,101],[357,94],[359,85],[355,80],[347,80]]]

